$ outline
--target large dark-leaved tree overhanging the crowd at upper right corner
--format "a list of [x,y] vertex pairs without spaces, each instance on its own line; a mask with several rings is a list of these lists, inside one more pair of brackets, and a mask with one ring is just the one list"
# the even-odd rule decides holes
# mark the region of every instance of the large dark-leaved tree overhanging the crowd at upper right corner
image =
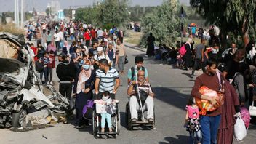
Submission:
[[243,38],[244,46],[249,43],[249,30],[255,30],[256,1],[244,0],[191,0],[191,6],[207,23],[220,27],[223,47],[226,46],[228,32],[237,33]]

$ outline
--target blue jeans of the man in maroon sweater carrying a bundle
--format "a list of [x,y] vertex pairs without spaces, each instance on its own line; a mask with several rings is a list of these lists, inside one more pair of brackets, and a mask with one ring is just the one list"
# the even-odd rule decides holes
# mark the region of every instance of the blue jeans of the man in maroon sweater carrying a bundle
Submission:
[[217,130],[220,125],[221,116],[201,116],[202,144],[216,144]]

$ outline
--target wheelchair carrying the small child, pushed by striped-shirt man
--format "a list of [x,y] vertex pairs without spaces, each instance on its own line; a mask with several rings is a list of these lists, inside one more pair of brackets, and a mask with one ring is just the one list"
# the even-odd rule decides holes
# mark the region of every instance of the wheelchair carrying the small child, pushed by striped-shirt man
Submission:
[[116,138],[120,133],[120,125],[121,125],[120,119],[121,117],[120,117],[119,106],[118,106],[118,103],[116,103],[116,113],[113,113],[111,115],[113,132],[108,132],[108,129],[106,129],[106,127],[108,127],[107,123],[105,124],[105,132],[100,132],[101,116],[100,116],[100,113],[96,113],[96,106],[95,106],[95,109],[92,113],[92,129],[93,129],[94,137],[98,139],[98,138],[102,138],[102,136],[105,135],[107,137]]

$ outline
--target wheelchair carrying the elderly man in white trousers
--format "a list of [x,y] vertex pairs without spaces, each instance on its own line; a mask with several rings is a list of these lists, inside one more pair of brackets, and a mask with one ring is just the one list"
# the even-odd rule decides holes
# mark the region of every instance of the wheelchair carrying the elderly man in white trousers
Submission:
[[[143,121],[143,115],[145,117],[147,110],[137,110],[137,116],[138,119],[136,122],[132,122],[132,118],[131,118],[131,112],[129,110],[129,102],[126,105],[126,123],[127,123],[127,129],[128,130],[133,130],[133,127],[148,127],[150,129],[155,129],[155,124],[156,124],[156,116],[155,116],[155,108],[153,108],[153,122],[148,122],[145,118]],[[144,113],[143,113],[144,112]]]

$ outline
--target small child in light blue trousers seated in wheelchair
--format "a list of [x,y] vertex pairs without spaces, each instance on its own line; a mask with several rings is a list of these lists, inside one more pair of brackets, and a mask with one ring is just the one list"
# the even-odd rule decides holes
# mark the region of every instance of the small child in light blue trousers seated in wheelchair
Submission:
[[118,100],[112,100],[108,91],[103,92],[103,97],[100,100],[95,100],[96,113],[100,113],[101,116],[101,132],[105,132],[105,120],[107,119],[109,132],[112,132],[111,115],[116,113],[116,103]]

